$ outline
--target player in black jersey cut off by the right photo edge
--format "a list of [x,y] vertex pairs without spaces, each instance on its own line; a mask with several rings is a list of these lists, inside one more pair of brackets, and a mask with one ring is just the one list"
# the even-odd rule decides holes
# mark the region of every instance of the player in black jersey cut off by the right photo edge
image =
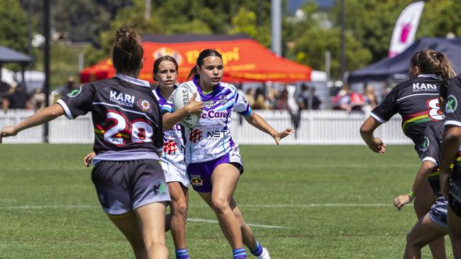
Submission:
[[[445,132],[440,157],[440,190],[448,199],[448,233],[455,259],[461,258],[461,74],[440,86],[445,97]],[[454,163],[450,170],[450,163]]]

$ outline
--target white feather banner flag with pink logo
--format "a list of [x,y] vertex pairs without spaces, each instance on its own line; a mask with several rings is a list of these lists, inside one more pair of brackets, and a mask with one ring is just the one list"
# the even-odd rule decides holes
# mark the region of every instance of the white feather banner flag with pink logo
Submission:
[[417,1],[406,6],[400,13],[394,26],[394,32],[392,32],[389,57],[395,57],[404,52],[413,43],[423,8],[424,1]]

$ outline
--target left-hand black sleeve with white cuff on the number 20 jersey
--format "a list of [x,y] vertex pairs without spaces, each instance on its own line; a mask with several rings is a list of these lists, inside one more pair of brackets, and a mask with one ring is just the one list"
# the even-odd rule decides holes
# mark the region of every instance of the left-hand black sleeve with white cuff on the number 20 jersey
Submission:
[[65,115],[69,120],[87,114],[92,108],[94,98],[94,86],[91,84],[80,86],[78,89],[62,96],[57,104],[62,106]]

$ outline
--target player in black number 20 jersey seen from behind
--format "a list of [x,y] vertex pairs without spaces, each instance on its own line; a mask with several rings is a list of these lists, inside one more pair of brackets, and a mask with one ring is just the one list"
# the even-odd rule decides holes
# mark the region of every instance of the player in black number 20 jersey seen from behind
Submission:
[[140,36],[127,26],[117,30],[112,49],[116,76],[81,86],[15,126],[1,137],[66,115],[91,111],[96,165],[91,180],[104,212],[130,242],[136,258],[168,258],[165,207],[170,195],[159,163],[162,151],[160,108],[148,81],[136,79],[143,67]]

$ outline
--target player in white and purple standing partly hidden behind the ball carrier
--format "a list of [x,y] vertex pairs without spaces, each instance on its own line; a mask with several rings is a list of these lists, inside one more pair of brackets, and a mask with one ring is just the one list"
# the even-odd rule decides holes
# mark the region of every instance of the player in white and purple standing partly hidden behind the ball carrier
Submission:
[[[152,91],[158,100],[160,108],[167,103],[176,86],[178,65],[170,56],[163,56],[155,60],[153,76],[158,86]],[[201,103],[191,101],[182,108],[186,113],[201,113]],[[177,259],[188,259],[189,251],[186,247],[186,219],[187,201],[189,200],[189,178],[186,174],[184,161],[184,142],[182,139],[182,125],[176,123],[172,127],[165,121],[163,132],[163,154],[160,156],[165,180],[170,190],[172,202],[170,214],[165,219],[166,229],[171,230]]]

